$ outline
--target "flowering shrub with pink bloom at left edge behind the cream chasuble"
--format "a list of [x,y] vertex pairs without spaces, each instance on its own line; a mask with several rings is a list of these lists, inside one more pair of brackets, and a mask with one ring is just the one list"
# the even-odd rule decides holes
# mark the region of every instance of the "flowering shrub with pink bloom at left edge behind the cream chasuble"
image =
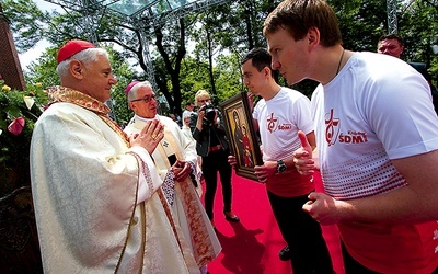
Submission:
[[30,185],[32,130],[46,103],[41,84],[27,84],[25,91],[18,91],[0,76],[0,197]]

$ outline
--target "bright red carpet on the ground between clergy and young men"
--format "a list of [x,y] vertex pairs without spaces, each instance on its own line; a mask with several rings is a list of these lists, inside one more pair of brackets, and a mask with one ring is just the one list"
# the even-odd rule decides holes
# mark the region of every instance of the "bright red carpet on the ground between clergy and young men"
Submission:
[[[234,173],[232,184],[232,207],[241,221],[229,222],[224,219],[221,184],[218,183],[215,224],[222,252],[208,265],[208,272],[210,274],[292,273],[290,262],[283,262],[278,258],[278,251],[286,243],[272,213],[265,185]],[[316,189],[321,187],[319,182]],[[332,254],[334,271],[344,274],[337,228],[324,226],[323,232]]]

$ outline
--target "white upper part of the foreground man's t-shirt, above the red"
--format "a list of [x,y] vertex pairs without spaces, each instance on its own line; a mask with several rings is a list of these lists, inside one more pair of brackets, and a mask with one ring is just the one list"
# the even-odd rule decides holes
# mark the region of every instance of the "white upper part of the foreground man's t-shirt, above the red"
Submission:
[[390,159],[438,149],[428,83],[406,62],[356,53],[312,95],[324,189],[337,199],[382,194],[406,184]]

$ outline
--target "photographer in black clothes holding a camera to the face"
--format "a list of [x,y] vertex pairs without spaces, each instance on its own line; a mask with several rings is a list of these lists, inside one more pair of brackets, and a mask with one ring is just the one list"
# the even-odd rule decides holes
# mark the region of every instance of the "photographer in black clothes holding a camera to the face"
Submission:
[[198,112],[191,116],[191,129],[196,140],[196,150],[203,157],[201,170],[206,181],[205,207],[215,227],[212,205],[217,189],[217,172],[222,183],[223,214],[229,221],[240,221],[231,210],[231,167],[228,163],[230,149],[226,137],[223,118],[210,102],[210,94],[205,90],[196,92],[195,102]]

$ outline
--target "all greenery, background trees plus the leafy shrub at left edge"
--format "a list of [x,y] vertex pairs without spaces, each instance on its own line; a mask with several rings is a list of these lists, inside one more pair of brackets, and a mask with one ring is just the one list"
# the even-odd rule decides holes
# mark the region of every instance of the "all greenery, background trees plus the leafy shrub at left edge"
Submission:
[[[195,92],[199,89],[214,91],[211,95],[215,104],[245,90],[241,81],[240,59],[253,47],[266,47],[262,35],[263,22],[279,2],[280,0],[230,1],[206,11],[193,12],[182,20],[172,18],[153,26],[147,20],[132,25],[132,22],[123,21],[105,9],[90,10],[90,14],[74,11],[69,11],[68,14],[43,12],[28,0],[3,0],[2,7],[11,21],[19,52],[32,48],[43,37],[54,45],[26,69],[27,82],[41,82],[43,88],[59,83],[55,72],[55,57],[59,46],[68,39],[92,37],[108,46],[114,73],[118,80],[112,93],[113,117],[123,124],[132,116],[124,90],[134,79],[154,80],[159,88],[155,93],[168,102],[161,102],[163,113],[181,107],[187,101],[194,101]],[[358,52],[376,52],[379,37],[388,32],[387,1],[328,0],[328,3],[338,16],[344,47]],[[426,62],[433,81],[437,84],[438,55],[431,53],[430,46],[438,34],[438,1],[399,1],[397,20],[399,33],[405,39],[403,58],[406,61]],[[113,50],[114,45],[122,49]],[[146,53],[150,59],[145,56]],[[143,71],[134,70],[134,62],[126,61],[129,58],[134,58],[135,65],[139,65]],[[151,64],[154,79],[148,79],[150,75],[147,72],[151,69]],[[287,85],[281,78],[278,82]],[[28,144],[35,116],[39,114],[37,106],[26,111],[23,105],[22,95],[34,89],[32,84],[28,87],[28,91],[22,92],[0,91],[2,169],[11,170],[13,165],[20,165],[20,162],[26,162],[27,159],[26,153],[18,157],[14,149],[26,151],[24,144]],[[306,80],[292,88],[310,98],[315,87],[314,81]],[[36,100],[44,99],[43,94],[38,95],[37,89],[34,91]],[[26,128],[19,136],[10,136],[7,126],[20,115],[25,117]],[[27,172],[21,170],[19,173]],[[4,172],[0,172],[1,182],[4,176]]]

